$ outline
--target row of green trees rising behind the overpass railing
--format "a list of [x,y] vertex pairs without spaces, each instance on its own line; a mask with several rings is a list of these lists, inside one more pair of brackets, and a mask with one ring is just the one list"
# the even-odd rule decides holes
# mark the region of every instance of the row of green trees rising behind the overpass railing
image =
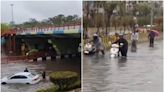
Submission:
[[49,26],[64,26],[67,24],[79,23],[81,19],[77,15],[68,15],[64,16],[63,14],[59,14],[54,17],[50,17],[48,19],[44,19],[42,21],[37,21],[36,19],[31,18],[29,21],[26,21],[22,24],[16,25],[16,27],[20,28],[43,28]]

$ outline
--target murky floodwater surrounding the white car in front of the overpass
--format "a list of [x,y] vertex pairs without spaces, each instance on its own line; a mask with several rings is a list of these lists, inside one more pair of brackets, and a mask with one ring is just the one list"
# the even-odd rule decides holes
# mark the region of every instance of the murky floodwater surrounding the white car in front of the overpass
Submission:
[[[41,73],[43,70],[46,72],[52,71],[75,71],[80,74],[81,72],[81,60],[80,58],[62,59],[47,62],[33,62],[33,63],[8,63],[1,64],[1,77],[11,75],[13,73],[22,72],[25,68],[28,68],[30,72]],[[6,84],[1,85],[1,92],[36,92],[39,89],[50,87],[52,83],[50,81],[41,81],[38,84]]]

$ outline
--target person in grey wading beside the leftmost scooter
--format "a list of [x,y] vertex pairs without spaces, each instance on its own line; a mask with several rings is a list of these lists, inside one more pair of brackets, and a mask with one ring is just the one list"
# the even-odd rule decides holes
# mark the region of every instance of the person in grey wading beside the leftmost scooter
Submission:
[[97,34],[93,35],[93,45],[96,47],[96,53],[98,54],[99,51],[101,51],[101,53],[104,55],[105,51],[104,51],[104,46],[101,42],[100,37]]

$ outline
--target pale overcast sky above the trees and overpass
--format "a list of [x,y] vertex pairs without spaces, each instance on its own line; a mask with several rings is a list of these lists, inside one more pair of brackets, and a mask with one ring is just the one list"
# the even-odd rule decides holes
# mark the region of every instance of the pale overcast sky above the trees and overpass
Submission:
[[16,24],[35,18],[38,21],[48,19],[58,14],[81,16],[81,1],[2,1],[1,21],[10,23],[11,6],[14,4],[14,21]]

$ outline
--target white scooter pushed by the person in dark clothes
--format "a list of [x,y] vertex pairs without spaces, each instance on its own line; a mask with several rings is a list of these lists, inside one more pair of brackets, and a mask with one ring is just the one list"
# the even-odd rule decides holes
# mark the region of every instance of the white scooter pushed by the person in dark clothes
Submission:
[[112,44],[110,49],[110,57],[118,57],[118,51],[119,51],[119,45],[118,44]]

